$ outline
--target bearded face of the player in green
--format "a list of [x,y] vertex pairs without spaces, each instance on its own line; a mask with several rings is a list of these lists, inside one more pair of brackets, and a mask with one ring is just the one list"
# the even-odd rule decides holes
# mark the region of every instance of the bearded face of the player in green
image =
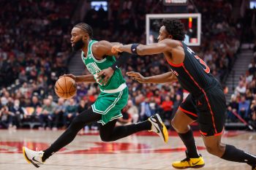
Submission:
[[72,28],[70,42],[73,50],[78,51],[85,47],[87,36],[80,28]]

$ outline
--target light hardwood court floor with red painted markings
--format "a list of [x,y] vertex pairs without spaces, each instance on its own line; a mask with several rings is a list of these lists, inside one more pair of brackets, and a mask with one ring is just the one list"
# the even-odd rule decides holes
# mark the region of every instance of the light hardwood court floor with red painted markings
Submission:
[[[35,150],[48,147],[63,131],[0,131],[0,169],[36,169],[26,163],[22,146]],[[206,161],[202,170],[249,170],[244,163],[223,161],[206,152],[203,139],[195,132],[198,149]],[[256,153],[256,133],[225,132],[222,140],[243,150]],[[164,144],[158,136],[145,132],[128,136],[116,142],[101,142],[98,134],[77,136],[75,140],[54,154],[41,170],[117,170],[117,169],[173,169],[172,161],[184,158],[184,145],[170,132],[169,142]]]

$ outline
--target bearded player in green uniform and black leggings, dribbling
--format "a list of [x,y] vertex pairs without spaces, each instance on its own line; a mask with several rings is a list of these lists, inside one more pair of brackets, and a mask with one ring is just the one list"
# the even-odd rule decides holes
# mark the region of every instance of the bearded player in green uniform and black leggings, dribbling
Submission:
[[[91,74],[75,76],[68,74],[75,82],[97,82],[101,93],[92,104],[91,109],[85,110],[72,120],[66,131],[48,147],[48,149],[36,152],[23,147],[23,155],[28,163],[37,168],[45,163],[45,160],[66,146],[78,134],[85,125],[93,122],[99,124],[99,135],[104,142],[116,141],[138,131],[154,131],[164,142],[167,142],[168,134],[165,125],[159,115],[153,115],[148,120],[132,125],[116,126],[118,117],[121,117],[121,109],[125,107],[128,100],[128,88],[121,75],[116,58],[111,52],[113,45],[107,41],[97,42],[91,39],[92,29],[86,23],[78,23],[72,28],[71,44],[74,50],[82,50],[81,58]],[[118,58],[119,59],[119,58]],[[118,62],[117,62],[118,63]],[[97,73],[113,65],[113,74],[108,82],[98,81]]]

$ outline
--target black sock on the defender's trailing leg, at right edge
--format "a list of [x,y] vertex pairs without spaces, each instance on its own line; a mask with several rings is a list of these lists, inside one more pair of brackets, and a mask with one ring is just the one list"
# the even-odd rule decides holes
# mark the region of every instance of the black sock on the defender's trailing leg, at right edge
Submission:
[[236,147],[229,144],[226,144],[222,159],[227,161],[248,163],[249,165],[256,164],[256,155],[252,155],[251,153],[245,152],[244,150],[238,150]]

